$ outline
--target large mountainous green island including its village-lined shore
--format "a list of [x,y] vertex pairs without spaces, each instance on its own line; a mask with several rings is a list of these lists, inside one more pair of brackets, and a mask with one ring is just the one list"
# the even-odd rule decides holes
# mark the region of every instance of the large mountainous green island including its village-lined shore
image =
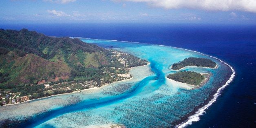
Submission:
[[[129,67],[147,63],[76,38],[54,38],[27,29],[0,29],[2,95],[5,91],[38,98],[102,86],[124,79],[117,74],[128,73]],[[93,84],[81,84],[84,82]],[[50,84],[49,89],[43,84]]]

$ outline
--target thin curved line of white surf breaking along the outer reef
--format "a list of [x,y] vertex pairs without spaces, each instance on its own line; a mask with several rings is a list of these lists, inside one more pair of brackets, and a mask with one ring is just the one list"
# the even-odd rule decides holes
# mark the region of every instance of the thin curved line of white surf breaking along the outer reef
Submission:
[[[82,38],[82,39],[91,39],[91,38]],[[92,39],[92,40],[103,40],[103,39]],[[118,41],[118,40],[108,40],[108,41]],[[118,41],[118,42],[140,43],[140,42],[129,42],[129,41]],[[140,43],[140,44],[149,44],[149,43]],[[152,44],[150,44],[150,45],[152,45]],[[159,45],[159,44],[153,44],[153,45],[165,46],[165,45]],[[182,48],[178,48],[178,47],[174,47],[174,46],[168,46],[168,47],[172,47],[172,48],[176,48],[176,49],[182,49]],[[192,50],[188,50],[188,49],[183,49],[183,50],[192,51]],[[200,53],[198,51],[192,51],[192,52],[196,52],[196,53],[199,53],[199,54],[202,54],[202,55],[206,55],[206,54]],[[220,60],[216,57],[213,57],[213,56],[210,56],[210,55],[206,55],[206,56],[215,58],[215,59],[223,62],[222,60]],[[218,88],[217,92],[213,95],[213,99],[211,99],[210,102],[208,102],[208,104],[199,108],[194,115],[191,115],[190,117],[188,117],[188,119],[186,121],[184,121],[181,124],[175,126],[175,128],[184,128],[185,126],[191,125],[192,122],[199,121],[200,120],[199,116],[203,115],[203,113],[205,113],[205,110],[207,108],[209,108],[214,102],[216,102],[216,99],[218,98],[218,96],[221,95],[221,90],[223,90],[227,85],[230,84],[230,82],[233,81],[236,72],[234,71],[232,66],[230,66],[226,62],[223,62],[223,63],[226,64],[227,66],[229,66],[230,69],[232,70],[232,75],[230,76],[230,79],[228,79],[227,82],[223,86]]]

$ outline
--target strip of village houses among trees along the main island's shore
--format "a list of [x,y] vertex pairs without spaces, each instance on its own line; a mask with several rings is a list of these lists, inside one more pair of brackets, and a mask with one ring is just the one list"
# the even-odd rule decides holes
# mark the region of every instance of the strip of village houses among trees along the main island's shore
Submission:
[[[121,64],[124,64],[124,68],[116,68],[116,67],[110,67],[114,71],[122,71],[123,74],[117,74],[110,72],[109,69],[106,67],[102,68],[103,73],[109,74],[111,79],[100,79],[100,84],[96,81],[90,80],[90,81],[84,81],[80,83],[75,82],[57,82],[55,84],[52,83],[45,83],[43,92],[42,93],[33,93],[30,95],[21,95],[22,93],[17,92],[13,93],[11,89],[8,90],[0,90],[0,106],[6,106],[11,104],[19,104],[22,102],[26,102],[32,99],[37,99],[38,97],[45,97],[45,96],[51,96],[51,95],[57,95],[57,94],[63,94],[63,93],[72,93],[72,92],[79,92],[84,89],[93,88],[93,87],[101,87],[113,82],[130,79],[132,76],[128,73],[130,67],[134,67],[132,65],[132,61],[128,60],[131,59],[132,55],[123,53],[121,51],[115,51],[111,50],[112,57],[115,57]],[[128,59],[127,59],[128,58]],[[139,59],[136,57],[136,59]],[[140,60],[140,59],[139,59]],[[135,61],[136,62],[136,61]],[[146,60],[143,60],[143,63],[141,65],[146,65],[148,62]],[[31,84],[30,86],[33,86]],[[44,96],[42,96],[44,95]]]

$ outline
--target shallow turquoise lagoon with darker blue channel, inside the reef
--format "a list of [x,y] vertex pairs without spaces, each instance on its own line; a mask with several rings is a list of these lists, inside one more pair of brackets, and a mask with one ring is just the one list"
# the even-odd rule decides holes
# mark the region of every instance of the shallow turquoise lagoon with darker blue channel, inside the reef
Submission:
[[[80,38],[105,48],[130,53],[150,62],[130,69],[132,79],[81,93],[57,95],[0,107],[0,120],[24,127],[178,127],[199,120],[234,76],[217,58],[169,46]],[[187,57],[210,58],[218,68],[186,67],[183,71],[212,73],[201,88],[170,82],[170,69]],[[215,94],[215,95],[214,95]],[[182,125],[183,124],[183,125]]]

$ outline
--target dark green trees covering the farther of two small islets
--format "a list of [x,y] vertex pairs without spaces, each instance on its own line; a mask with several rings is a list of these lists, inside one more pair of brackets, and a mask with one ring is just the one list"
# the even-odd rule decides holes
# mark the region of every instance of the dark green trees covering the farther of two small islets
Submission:
[[214,68],[216,63],[207,58],[189,57],[179,63],[172,64],[173,70],[179,70],[185,66],[200,66]]

